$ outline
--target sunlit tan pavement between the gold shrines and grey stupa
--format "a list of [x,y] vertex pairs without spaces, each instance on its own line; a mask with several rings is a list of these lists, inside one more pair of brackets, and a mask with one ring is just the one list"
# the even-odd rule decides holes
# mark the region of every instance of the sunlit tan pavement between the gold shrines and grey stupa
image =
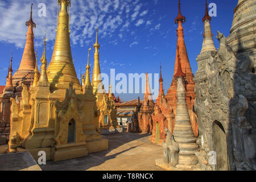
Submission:
[[109,139],[109,150],[59,162],[47,161],[43,171],[162,171],[155,159],[163,157],[161,146],[150,143],[150,135],[119,133],[104,135]]

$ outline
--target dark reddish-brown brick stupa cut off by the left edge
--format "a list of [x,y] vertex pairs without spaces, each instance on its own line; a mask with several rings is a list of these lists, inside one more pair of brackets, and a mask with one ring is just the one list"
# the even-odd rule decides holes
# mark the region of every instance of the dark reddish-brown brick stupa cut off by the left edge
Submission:
[[[3,93],[0,95],[0,144],[6,144],[7,140],[9,140],[10,134],[10,106],[11,101],[10,98],[14,98],[14,86],[13,86],[13,69],[12,64],[13,56],[11,55],[10,66],[8,69],[8,75],[6,77],[6,86]],[[9,108],[9,109],[6,109]]]

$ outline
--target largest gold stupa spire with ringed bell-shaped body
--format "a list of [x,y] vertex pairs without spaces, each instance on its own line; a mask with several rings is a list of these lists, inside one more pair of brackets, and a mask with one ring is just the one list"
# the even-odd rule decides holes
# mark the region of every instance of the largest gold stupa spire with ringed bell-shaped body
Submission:
[[61,5],[61,9],[52,59],[47,69],[48,80],[51,83],[51,91],[65,90],[69,88],[70,82],[73,82],[73,88],[81,91],[81,85],[73,64],[69,37],[69,14],[67,9],[71,5],[71,0],[58,0],[58,3]]

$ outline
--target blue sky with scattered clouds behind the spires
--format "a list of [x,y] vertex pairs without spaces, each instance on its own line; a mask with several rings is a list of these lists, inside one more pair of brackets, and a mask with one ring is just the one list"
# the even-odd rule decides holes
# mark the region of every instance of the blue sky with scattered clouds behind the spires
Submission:
[[[214,43],[217,30],[229,35],[232,26],[233,10],[237,0],[208,0],[216,3],[217,16],[212,18]],[[0,85],[5,85],[10,52],[13,49],[14,72],[19,67],[27,27],[25,22],[30,16],[31,0],[0,0]],[[33,20],[36,23],[35,47],[38,56],[43,52],[43,35],[47,30],[47,60],[51,60],[55,36],[57,3],[50,0],[33,0]],[[46,17],[38,16],[39,3],[46,5]],[[71,46],[75,59],[77,76],[80,67],[85,71],[88,43],[95,43],[95,27],[98,27],[100,43],[101,72],[159,73],[162,63],[164,92],[167,93],[174,73],[176,52],[176,24],[178,13],[177,0],[72,0],[71,7]],[[205,14],[204,0],[181,0],[181,14],[186,17],[183,24],[185,44],[192,72],[197,70],[196,57],[203,42],[202,18]],[[40,63],[38,63],[40,66]],[[93,52],[90,52],[90,64],[93,66]],[[40,68],[40,67],[39,67]],[[116,81],[117,83],[118,81]],[[108,89],[108,85],[105,85]],[[116,94],[121,100],[133,100],[143,94]],[[143,98],[143,97],[142,97]]]

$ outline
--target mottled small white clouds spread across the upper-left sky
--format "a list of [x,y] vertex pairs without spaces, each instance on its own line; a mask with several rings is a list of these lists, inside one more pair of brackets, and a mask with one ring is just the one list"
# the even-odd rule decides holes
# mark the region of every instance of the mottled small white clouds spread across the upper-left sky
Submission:
[[[129,31],[130,21],[136,20],[141,12],[141,1],[127,0],[77,0],[72,1],[70,15],[71,43],[84,46],[94,41],[95,28],[98,27],[100,39],[113,36],[116,30]],[[23,48],[26,42],[27,27],[25,22],[30,18],[31,0],[1,1],[0,3],[0,42],[14,44]],[[38,5],[42,0],[34,0],[33,20],[35,45],[43,46],[44,31],[51,47],[56,37],[57,3],[46,2],[46,17],[38,16]],[[133,11],[132,13],[130,13]],[[138,20],[137,20],[138,22]],[[141,22],[141,21],[140,21]]]

